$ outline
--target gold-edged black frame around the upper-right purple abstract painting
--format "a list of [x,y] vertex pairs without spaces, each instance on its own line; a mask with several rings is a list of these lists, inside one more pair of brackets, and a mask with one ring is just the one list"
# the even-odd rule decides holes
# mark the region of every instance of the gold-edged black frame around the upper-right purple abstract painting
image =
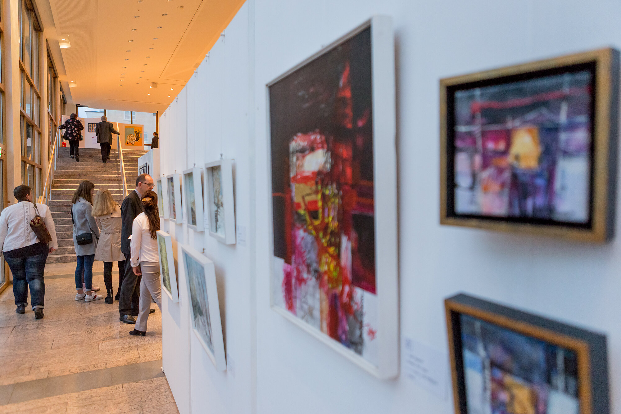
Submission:
[[[451,130],[453,96],[461,86],[475,88],[562,73],[566,68],[591,68],[592,147],[589,222],[584,225],[489,215],[456,214],[455,142]],[[440,80],[440,223],[514,233],[535,233],[581,241],[602,242],[614,236],[619,118],[619,52],[612,48],[508,66]]]

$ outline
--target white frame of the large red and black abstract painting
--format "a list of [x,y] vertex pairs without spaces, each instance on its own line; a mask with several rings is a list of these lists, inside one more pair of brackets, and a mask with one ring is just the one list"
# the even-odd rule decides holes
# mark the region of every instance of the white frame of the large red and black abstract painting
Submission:
[[[271,261],[270,303],[274,312],[279,313],[373,376],[379,379],[392,379],[399,375],[399,244],[397,238],[395,55],[391,17],[372,17],[266,84],[267,125],[268,137],[270,137],[267,141],[267,152],[270,155],[269,163],[272,165],[270,87],[322,55],[337,50],[340,45],[369,28],[371,30],[371,119],[373,122],[374,269],[377,292],[377,295],[373,295],[372,299],[376,302],[377,312],[374,315],[376,326],[378,326],[377,336],[374,337],[374,340],[378,341],[374,345],[377,362],[369,362],[361,354],[347,348],[347,346],[323,333],[319,328],[315,328],[294,313],[289,312],[280,303],[276,303],[275,297],[282,289],[281,286],[276,286],[276,275],[280,272],[281,280],[284,280],[283,269],[285,265],[283,259],[277,256],[273,256]],[[306,133],[306,131],[300,132]],[[273,191],[270,180],[270,194],[274,194]],[[272,203],[270,203],[270,210],[271,214],[268,220],[270,220],[270,229],[273,229],[274,208]],[[274,249],[274,232],[272,230],[270,235],[271,248]],[[279,297],[279,301],[282,302],[282,300],[282,296]]]

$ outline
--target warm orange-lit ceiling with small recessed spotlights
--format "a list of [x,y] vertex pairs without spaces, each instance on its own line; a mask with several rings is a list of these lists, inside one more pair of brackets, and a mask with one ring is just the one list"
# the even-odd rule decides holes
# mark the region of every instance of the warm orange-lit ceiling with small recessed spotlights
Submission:
[[[242,4],[39,0],[37,9],[68,101],[100,109],[163,112]],[[70,48],[59,47],[63,38]],[[70,82],[75,86],[69,88]]]

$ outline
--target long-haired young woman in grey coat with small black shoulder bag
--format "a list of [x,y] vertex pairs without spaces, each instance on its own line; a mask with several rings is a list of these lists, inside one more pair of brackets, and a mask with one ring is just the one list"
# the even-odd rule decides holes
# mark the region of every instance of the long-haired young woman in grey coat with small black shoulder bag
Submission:
[[[78,256],[76,265],[76,300],[93,302],[93,300],[103,299],[102,295],[93,293],[93,262],[95,261],[95,251],[97,249],[97,239],[99,238],[99,227],[93,217],[93,193],[95,184],[85,180],[79,183],[78,189],[73,194],[71,202],[71,218],[73,218],[73,246]],[[78,245],[76,236],[91,234],[91,243]],[[84,285],[82,286],[82,272],[84,272]],[[84,291],[86,290],[86,292]]]

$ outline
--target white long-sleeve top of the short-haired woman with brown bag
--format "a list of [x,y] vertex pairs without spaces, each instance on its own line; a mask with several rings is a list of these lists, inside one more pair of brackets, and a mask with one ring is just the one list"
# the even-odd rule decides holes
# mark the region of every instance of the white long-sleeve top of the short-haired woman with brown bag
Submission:
[[[52,213],[47,205],[37,203],[39,215],[43,218],[47,231],[52,236],[48,243],[49,248],[58,248],[56,230]],[[22,247],[34,245],[40,240],[30,228],[30,220],[35,217],[35,207],[29,201],[21,201],[9,205],[0,213],[0,251],[11,251]]]

